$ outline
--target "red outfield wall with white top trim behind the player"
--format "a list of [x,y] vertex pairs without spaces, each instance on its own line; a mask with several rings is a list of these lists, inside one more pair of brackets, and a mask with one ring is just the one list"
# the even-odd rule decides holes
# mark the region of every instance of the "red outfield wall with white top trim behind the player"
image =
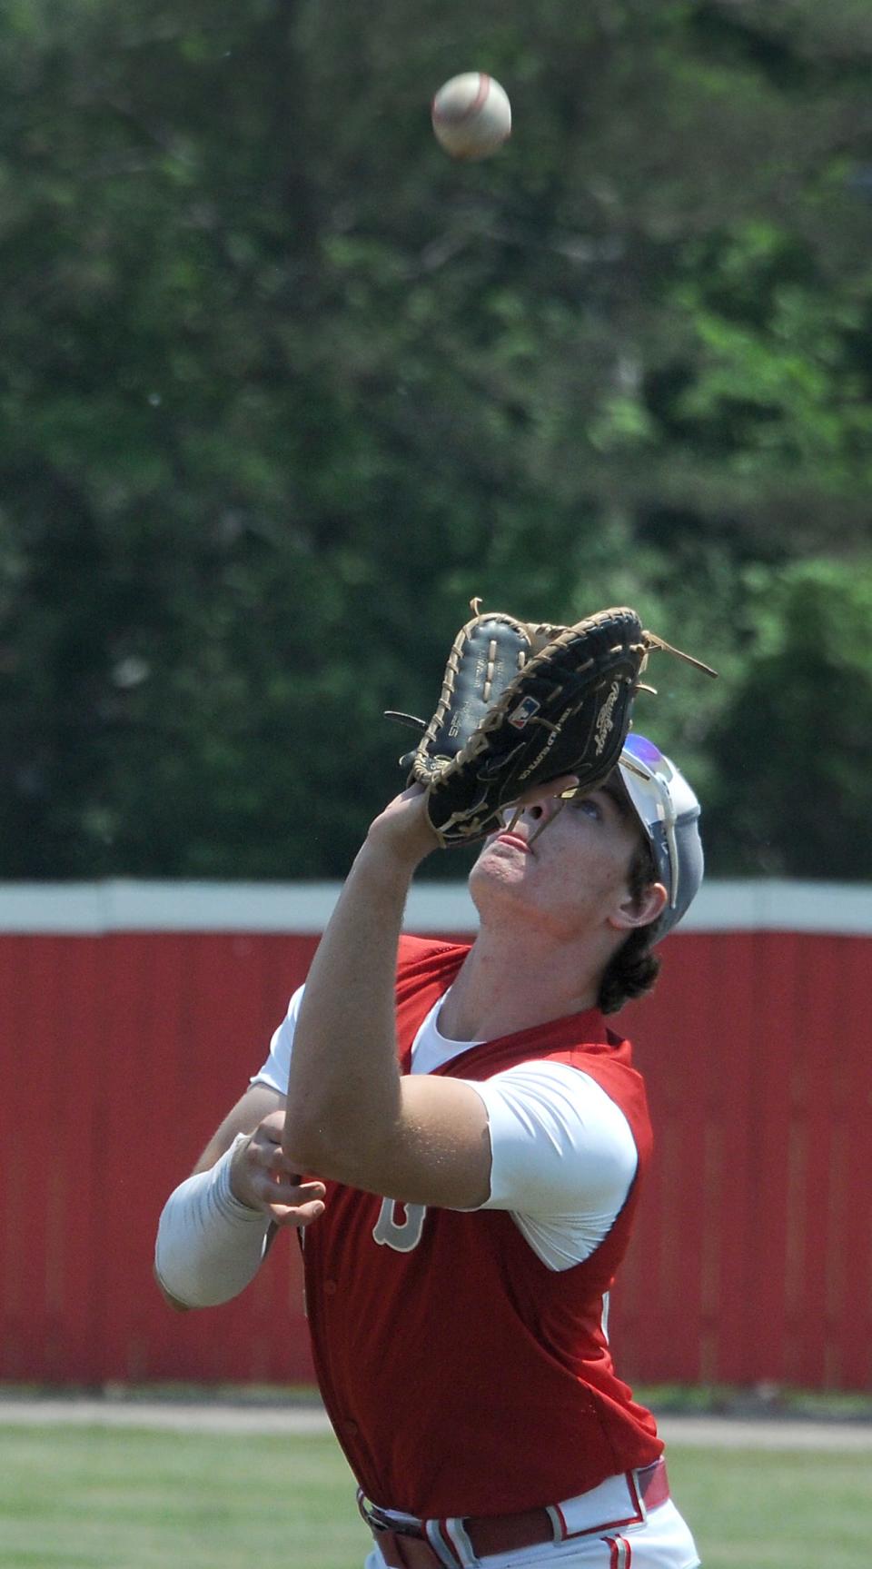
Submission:
[[[296,1244],[237,1302],[168,1312],[157,1218],[270,1034],[328,885],[0,893],[0,1379],[307,1381]],[[630,1382],[872,1374],[872,891],[714,885],[619,1021],[656,1159],[612,1309]],[[453,886],[408,927],[467,932]],[[797,927],[797,929],[790,929]]]

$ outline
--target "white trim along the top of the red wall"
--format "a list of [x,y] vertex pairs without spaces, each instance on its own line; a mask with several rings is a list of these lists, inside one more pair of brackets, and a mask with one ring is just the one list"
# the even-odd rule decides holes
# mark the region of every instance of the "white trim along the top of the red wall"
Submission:
[[[0,883],[0,932],[276,932],[325,929],[340,883],[140,882]],[[475,910],[464,883],[417,883],[406,905],[409,932],[471,932]],[[872,885],[828,882],[709,882],[682,932],[872,934]]]

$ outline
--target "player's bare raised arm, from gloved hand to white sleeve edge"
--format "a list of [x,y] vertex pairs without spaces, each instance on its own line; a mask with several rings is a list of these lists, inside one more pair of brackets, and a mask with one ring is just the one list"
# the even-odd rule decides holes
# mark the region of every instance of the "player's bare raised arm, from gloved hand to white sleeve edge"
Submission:
[[412,874],[433,849],[412,786],[372,824],[309,970],[282,1142],[292,1164],[322,1177],[463,1207],[488,1196],[481,1101],[456,1081],[411,1086],[397,1062],[397,941]]

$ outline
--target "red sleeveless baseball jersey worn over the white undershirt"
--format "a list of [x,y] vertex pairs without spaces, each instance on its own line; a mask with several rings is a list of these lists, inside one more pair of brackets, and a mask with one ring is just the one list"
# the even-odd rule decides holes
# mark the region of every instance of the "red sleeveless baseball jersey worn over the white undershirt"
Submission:
[[[467,951],[400,940],[403,1072]],[[359,1486],[386,1509],[508,1514],[587,1492],[663,1450],[602,1329],[651,1153],[645,1086],[629,1042],[596,1009],[488,1040],[438,1072],[486,1079],[533,1058],[596,1079],[638,1150],[626,1203],[583,1263],[549,1269],[508,1211],[406,1211],[342,1183],[326,1185],[326,1211],[304,1236],[325,1406]]]

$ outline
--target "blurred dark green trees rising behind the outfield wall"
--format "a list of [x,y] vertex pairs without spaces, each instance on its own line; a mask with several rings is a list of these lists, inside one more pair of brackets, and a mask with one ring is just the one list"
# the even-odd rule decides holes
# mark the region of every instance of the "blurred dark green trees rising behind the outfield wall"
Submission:
[[6,0],[0,876],[342,876],[480,595],[721,672],[637,706],[712,872],[872,877],[870,69],[864,0]]

